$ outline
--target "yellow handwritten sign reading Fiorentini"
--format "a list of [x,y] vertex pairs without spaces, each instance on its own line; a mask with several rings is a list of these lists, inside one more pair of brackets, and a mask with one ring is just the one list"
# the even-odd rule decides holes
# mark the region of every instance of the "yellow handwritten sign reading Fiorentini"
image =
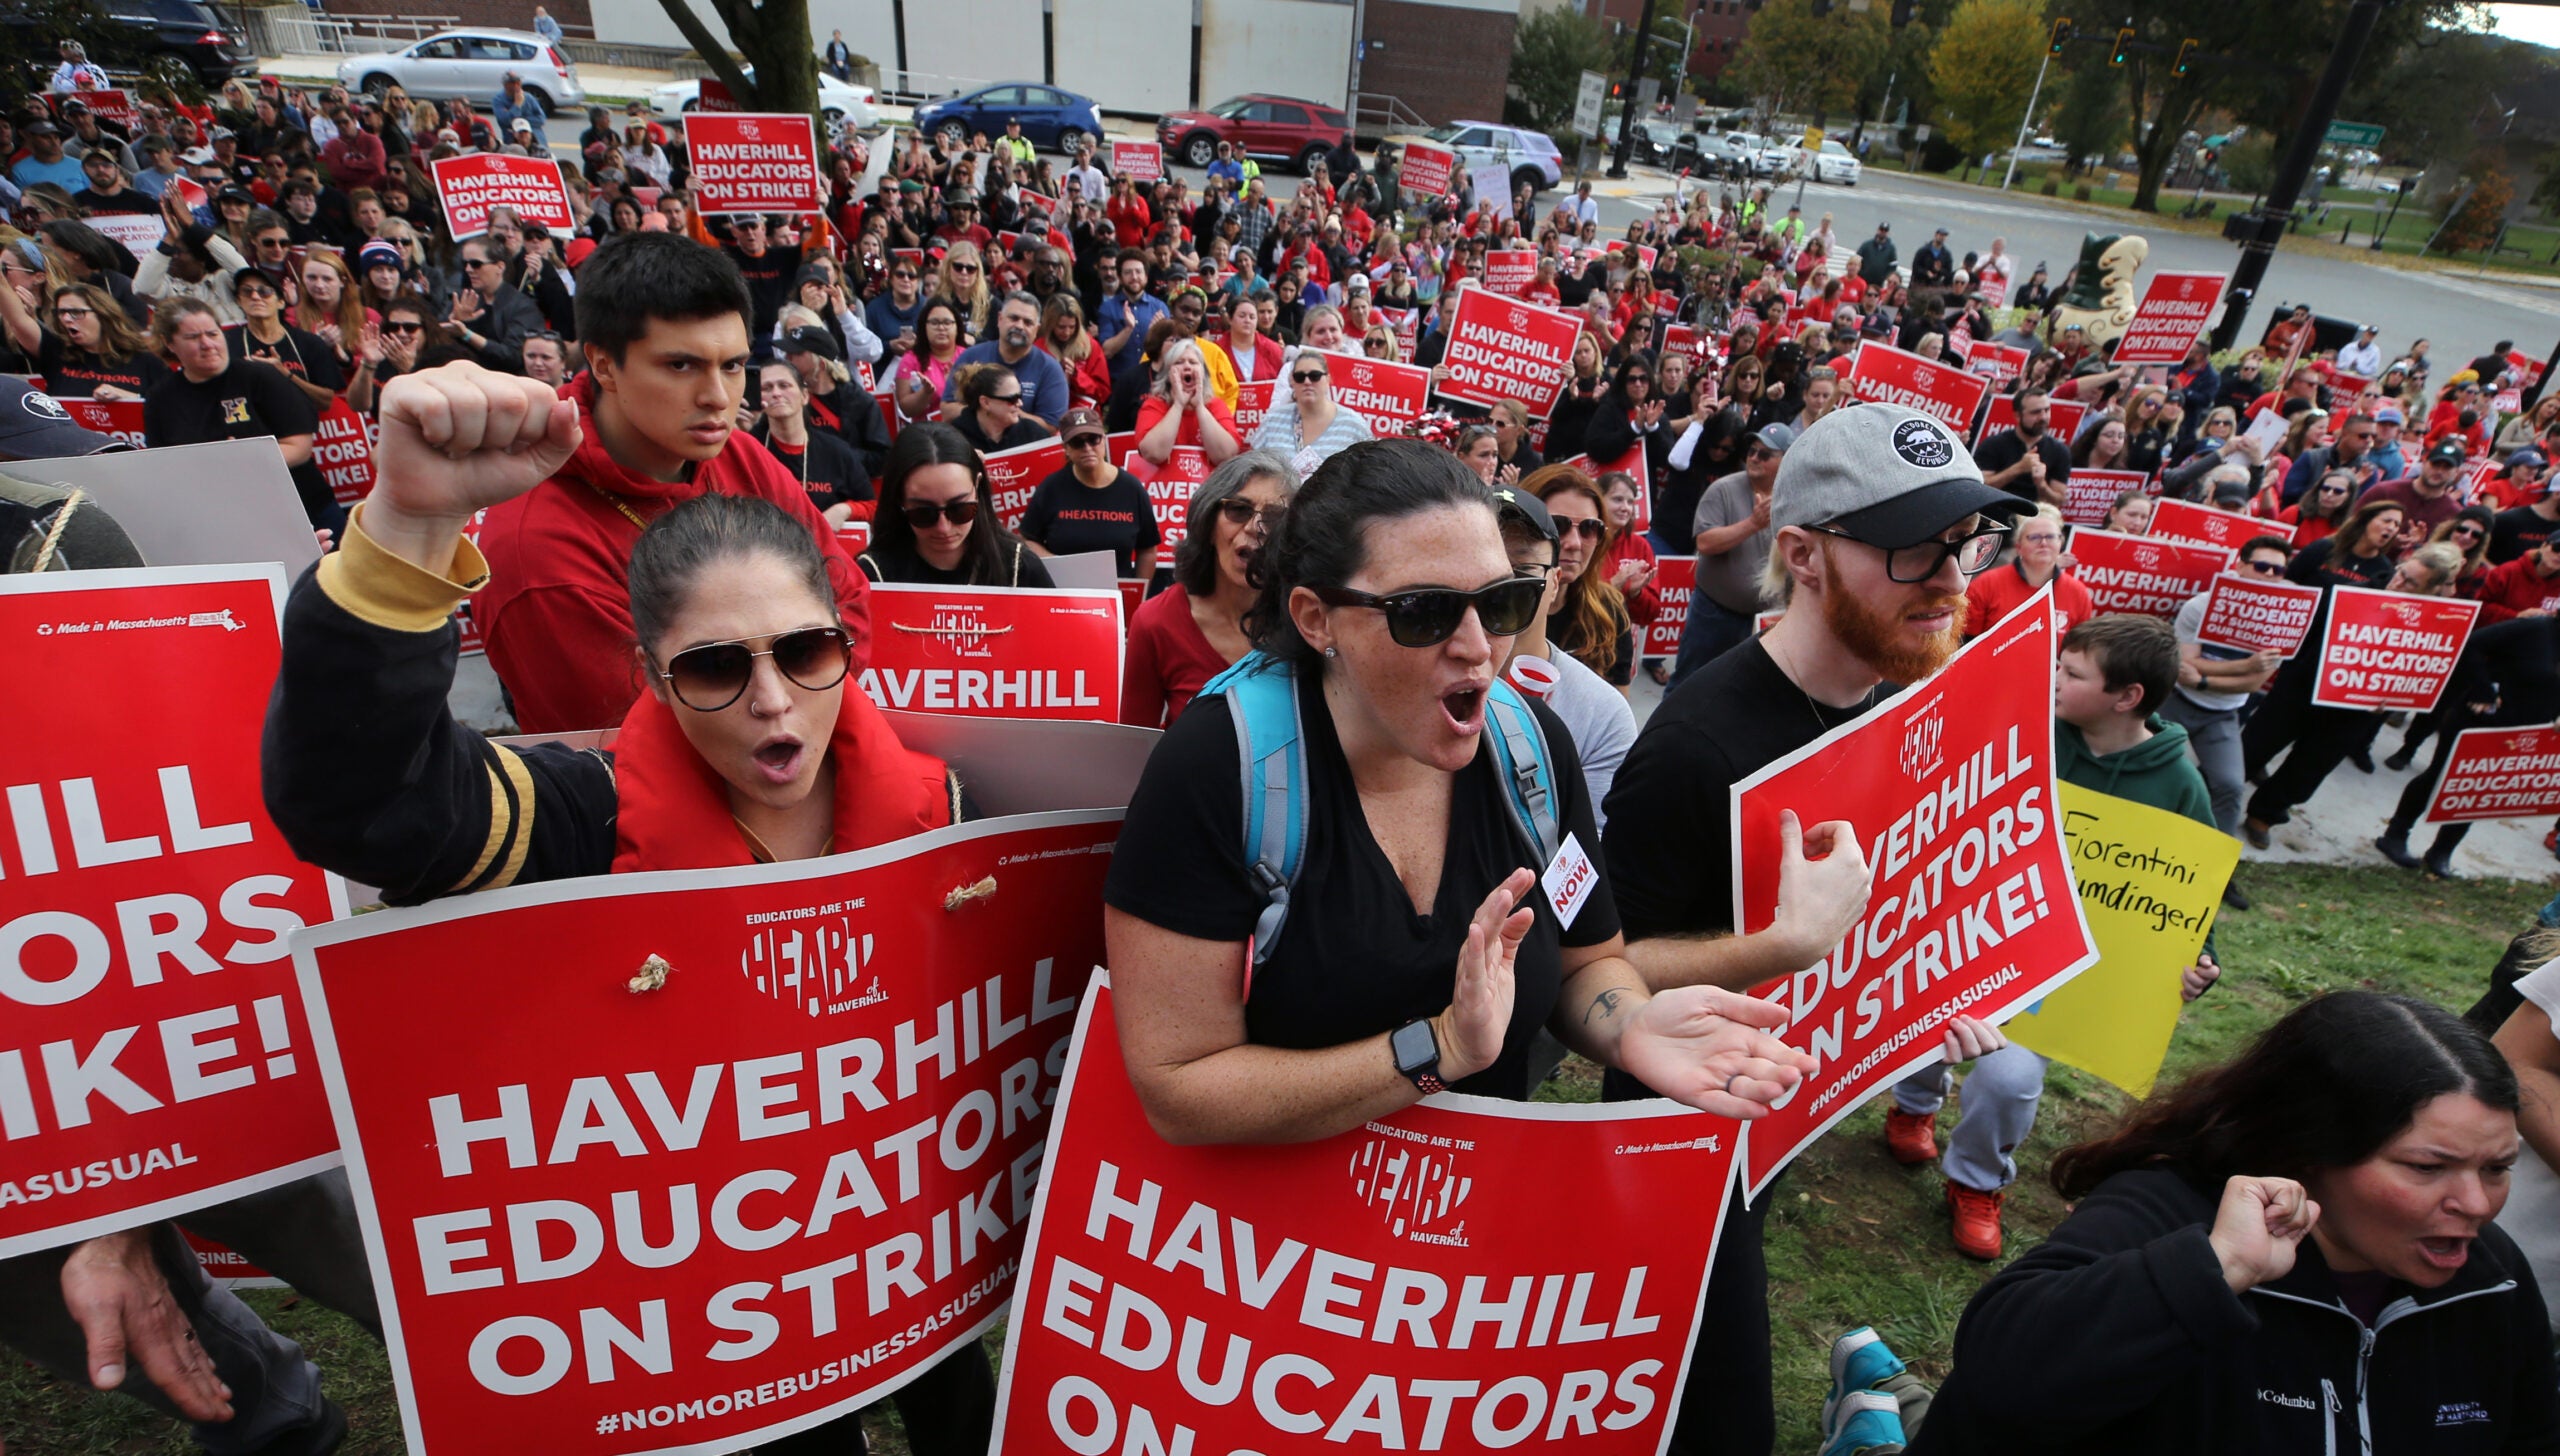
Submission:
[[2179,1029],[2179,972],[2204,949],[2240,842],[2074,783],[2061,786],[2061,809],[2099,962],[2002,1031],[2143,1098]]

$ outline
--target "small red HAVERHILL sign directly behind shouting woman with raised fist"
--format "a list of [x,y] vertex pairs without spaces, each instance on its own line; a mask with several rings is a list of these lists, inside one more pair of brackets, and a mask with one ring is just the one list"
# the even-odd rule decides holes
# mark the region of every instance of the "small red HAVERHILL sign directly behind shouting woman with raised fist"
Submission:
[[1119,722],[1119,591],[870,589],[863,691],[883,709]]

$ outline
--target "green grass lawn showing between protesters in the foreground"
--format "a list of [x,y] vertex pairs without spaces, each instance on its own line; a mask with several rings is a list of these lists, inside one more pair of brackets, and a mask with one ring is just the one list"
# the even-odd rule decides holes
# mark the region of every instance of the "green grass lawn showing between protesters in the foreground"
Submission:
[[[2399,870],[2324,865],[2245,865],[2243,885],[2255,908],[2225,916],[2217,944],[2227,972],[2179,1026],[2168,1077],[2230,1057],[2322,990],[2404,990],[2460,1011],[2488,983],[2506,939],[2550,898],[2550,885],[2522,880],[2432,883]],[[1595,1100],[1600,1077],[1590,1064],[1567,1062],[1541,1095]],[[2061,1198],[2043,1182],[2053,1151],[2104,1128],[2125,1105],[2115,1088],[2056,1067],[2020,1157],[2025,1177],[2010,1198],[2010,1254],[2063,1215]],[[1948,1369],[1956,1320],[1992,1267],[1948,1246],[1938,1175],[1884,1157],[1882,1105],[1864,1108],[1807,1151],[1772,1198],[1779,1200],[1769,1221],[1777,1448],[1807,1456],[1818,1446],[1830,1341],[1871,1323],[1935,1382]],[[371,1338],[289,1292],[246,1297],[328,1372],[330,1395],[353,1420],[351,1456],[402,1451],[392,1377]],[[988,1336],[988,1349],[1001,1349],[1001,1333]],[[904,1453],[886,1410],[870,1428],[876,1451]],[[0,1438],[10,1456],[192,1451],[182,1428],[141,1405],[90,1397],[13,1356],[0,1366]]]

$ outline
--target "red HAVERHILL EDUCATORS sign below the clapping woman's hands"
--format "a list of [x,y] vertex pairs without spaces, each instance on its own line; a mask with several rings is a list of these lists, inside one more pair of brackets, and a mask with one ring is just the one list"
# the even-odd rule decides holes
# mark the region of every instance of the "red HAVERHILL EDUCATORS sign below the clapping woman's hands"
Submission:
[[1098,985],[993,1448],[1661,1451],[1736,1128],[1444,1093],[1321,1141],[1172,1146]]

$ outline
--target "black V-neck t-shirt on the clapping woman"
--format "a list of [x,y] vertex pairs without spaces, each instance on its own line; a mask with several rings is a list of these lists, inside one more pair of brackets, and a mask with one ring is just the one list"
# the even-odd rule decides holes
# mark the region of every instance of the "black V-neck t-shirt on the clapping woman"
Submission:
[[[1280,944],[1247,988],[1244,1034],[1257,1047],[1321,1049],[1446,1011],[1467,921],[1513,870],[1544,865],[1531,865],[1531,847],[1503,806],[1495,755],[1480,750],[1449,793],[1449,844],[1431,914],[1413,914],[1395,865],[1370,837],[1324,691],[1308,683],[1298,709],[1308,775],[1306,860],[1290,888]],[[1533,704],[1533,711],[1546,734],[1556,824],[1590,850],[1600,837],[1572,734],[1546,704]],[[1236,727],[1226,699],[1193,699],[1147,757],[1103,903],[1196,939],[1252,937],[1265,898],[1247,875],[1244,786],[1236,775]],[[1513,962],[1503,1054],[1492,1067],[1452,1082],[1459,1093],[1526,1100],[1528,1047],[1554,1011],[1562,947],[1603,944],[1618,934],[1605,875],[1572,929],[1556,924],[1544,893],[1531,890],[1526,903],[1536,921]]]

